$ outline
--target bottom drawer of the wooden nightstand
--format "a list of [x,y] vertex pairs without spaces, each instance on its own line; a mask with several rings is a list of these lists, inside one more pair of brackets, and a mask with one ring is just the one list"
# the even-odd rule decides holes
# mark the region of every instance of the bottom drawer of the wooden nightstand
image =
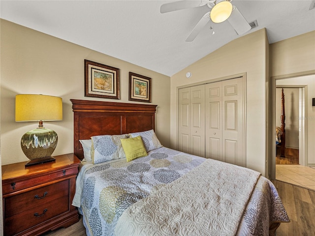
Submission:
[[54,201],[29,208],[21,213],[5,217],[4,235],[10,236],[38,225],[69,211],[69,198],[62,196]]

